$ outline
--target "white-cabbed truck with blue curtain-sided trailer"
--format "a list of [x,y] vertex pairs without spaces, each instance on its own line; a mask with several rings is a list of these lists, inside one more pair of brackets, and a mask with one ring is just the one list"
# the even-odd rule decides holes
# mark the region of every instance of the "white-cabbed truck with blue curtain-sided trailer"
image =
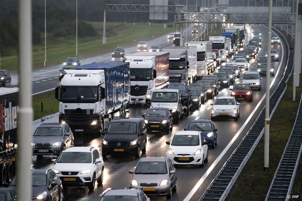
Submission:
[[117,117],[126,117],[130,104],[128,63],[92,63],[65,69],[56,87],[59,122],[73,133],[100,134]]

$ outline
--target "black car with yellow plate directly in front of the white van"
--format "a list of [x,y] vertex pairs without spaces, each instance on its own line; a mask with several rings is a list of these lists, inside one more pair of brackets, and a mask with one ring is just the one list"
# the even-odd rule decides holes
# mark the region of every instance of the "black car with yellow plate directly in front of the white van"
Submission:
[[165,131],[170,133],[173,129],[173,116],[168,108],[149,108],[144,118],[148,131]]

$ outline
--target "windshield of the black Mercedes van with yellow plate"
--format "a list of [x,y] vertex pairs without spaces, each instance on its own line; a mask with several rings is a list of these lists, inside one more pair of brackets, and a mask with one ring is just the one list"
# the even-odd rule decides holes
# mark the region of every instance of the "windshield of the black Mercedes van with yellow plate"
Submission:
[[112,122],[106,134],[136,134],[136,124],[126,122]]

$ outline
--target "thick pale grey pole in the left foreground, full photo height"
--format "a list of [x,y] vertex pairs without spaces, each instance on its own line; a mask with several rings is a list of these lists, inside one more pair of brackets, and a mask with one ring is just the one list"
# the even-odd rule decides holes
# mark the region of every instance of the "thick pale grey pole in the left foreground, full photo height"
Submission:
[[[19,109],[17,155],[17,201],[31,200],[32,193],[32,15],[31,0],[18,0],[19,26]],[[22,66],[22,68],[21,68]],[[22,76],[21,76],[22,75]],[[26,185],[24,182],[26,181]]]

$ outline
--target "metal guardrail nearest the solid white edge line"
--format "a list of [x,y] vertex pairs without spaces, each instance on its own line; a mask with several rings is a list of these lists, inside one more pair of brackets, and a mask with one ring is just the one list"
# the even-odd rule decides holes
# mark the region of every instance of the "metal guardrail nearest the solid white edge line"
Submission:
[[[283,34],[282,34],[283,35]],[[293,46],[290,40],[283,35],[286,40],[289,49]],[[278,84],[275,92],[270,97],[270,108],[269,114],[270,118],[275,108],[277,107],[281,97],[283,96],[286,90],[286,82],[288,81],[289,76],[293,68],[293,52],[289,52],[287,66],[285,68],[283,77]],[[241,170],[252,154],[253,150],[257,146],[259,140],[264,133],[264,121],[265,120],[265,107],[262,109],[260,115],[256,119],[255,123],[243,138],[239,146],[227,160],[223,168],[214,178],[210,186],[207,188],[206,192],[199,199],[201,200],[224,200],[235,183],[237,177],[239,176]],[[301,122],[302,123],[302,122]]]

